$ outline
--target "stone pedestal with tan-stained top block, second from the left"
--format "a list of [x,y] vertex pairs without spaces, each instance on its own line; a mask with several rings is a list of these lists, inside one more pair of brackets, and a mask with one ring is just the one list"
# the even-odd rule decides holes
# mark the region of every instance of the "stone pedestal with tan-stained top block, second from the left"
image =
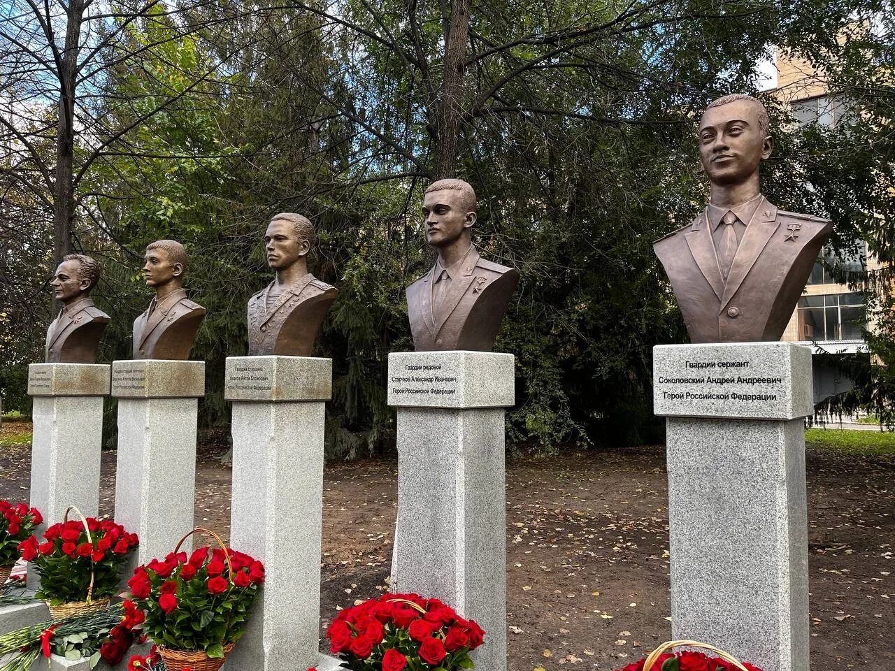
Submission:
[[[115,522],[140,537],[132,563],[145,564],[172,552],[192,529],[205,362],[114,361],[112,395],[118,399]],[[125,580],[131,573],[125,570]]]

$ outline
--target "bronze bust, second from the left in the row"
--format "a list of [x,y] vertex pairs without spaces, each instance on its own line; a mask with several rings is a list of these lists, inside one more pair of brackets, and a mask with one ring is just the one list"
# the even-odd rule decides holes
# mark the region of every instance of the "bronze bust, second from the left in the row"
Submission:
[[186,361],[205,308],[183,291],[186,250],[180,242],[159,240],[146,248],[143,276],[156,290],[149,308],[133,322],[133,358]]

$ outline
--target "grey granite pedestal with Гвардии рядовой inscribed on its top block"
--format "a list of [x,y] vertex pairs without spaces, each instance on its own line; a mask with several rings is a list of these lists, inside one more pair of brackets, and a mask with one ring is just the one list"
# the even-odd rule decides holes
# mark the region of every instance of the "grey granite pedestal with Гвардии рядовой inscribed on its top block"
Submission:
[[515,358],[393,352],[398,492],[392,590],[437,597],[485,630],[475,667],[507,667],[504,414]]

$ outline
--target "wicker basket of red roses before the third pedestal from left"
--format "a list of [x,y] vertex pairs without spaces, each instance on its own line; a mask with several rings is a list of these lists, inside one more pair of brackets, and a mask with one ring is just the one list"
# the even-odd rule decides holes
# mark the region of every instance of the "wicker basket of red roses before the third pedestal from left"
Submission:
[[[134,601],[146,611],[143,631],[158,644],[168,671],[196,666],[198,660],[224,663],[245,633],[251,605],[264,582],[264,565],[226,548],[179,552],[190,534],[163,561],[138,566],[128,581]],[[191,531],[190,533],[193,533]],[[204,667],[203,667],[204,668]]]

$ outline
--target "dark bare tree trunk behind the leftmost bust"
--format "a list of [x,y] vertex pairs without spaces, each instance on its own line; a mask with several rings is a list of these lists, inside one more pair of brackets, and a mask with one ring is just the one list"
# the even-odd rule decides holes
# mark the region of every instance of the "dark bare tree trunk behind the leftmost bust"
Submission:
[[59,125],[56,130],[55,193],[53,194],[53,260],[62,262],[72,252],[74,218],[74,94],[84,0],[71,0],[65,27],[65,48],[59,67]]

